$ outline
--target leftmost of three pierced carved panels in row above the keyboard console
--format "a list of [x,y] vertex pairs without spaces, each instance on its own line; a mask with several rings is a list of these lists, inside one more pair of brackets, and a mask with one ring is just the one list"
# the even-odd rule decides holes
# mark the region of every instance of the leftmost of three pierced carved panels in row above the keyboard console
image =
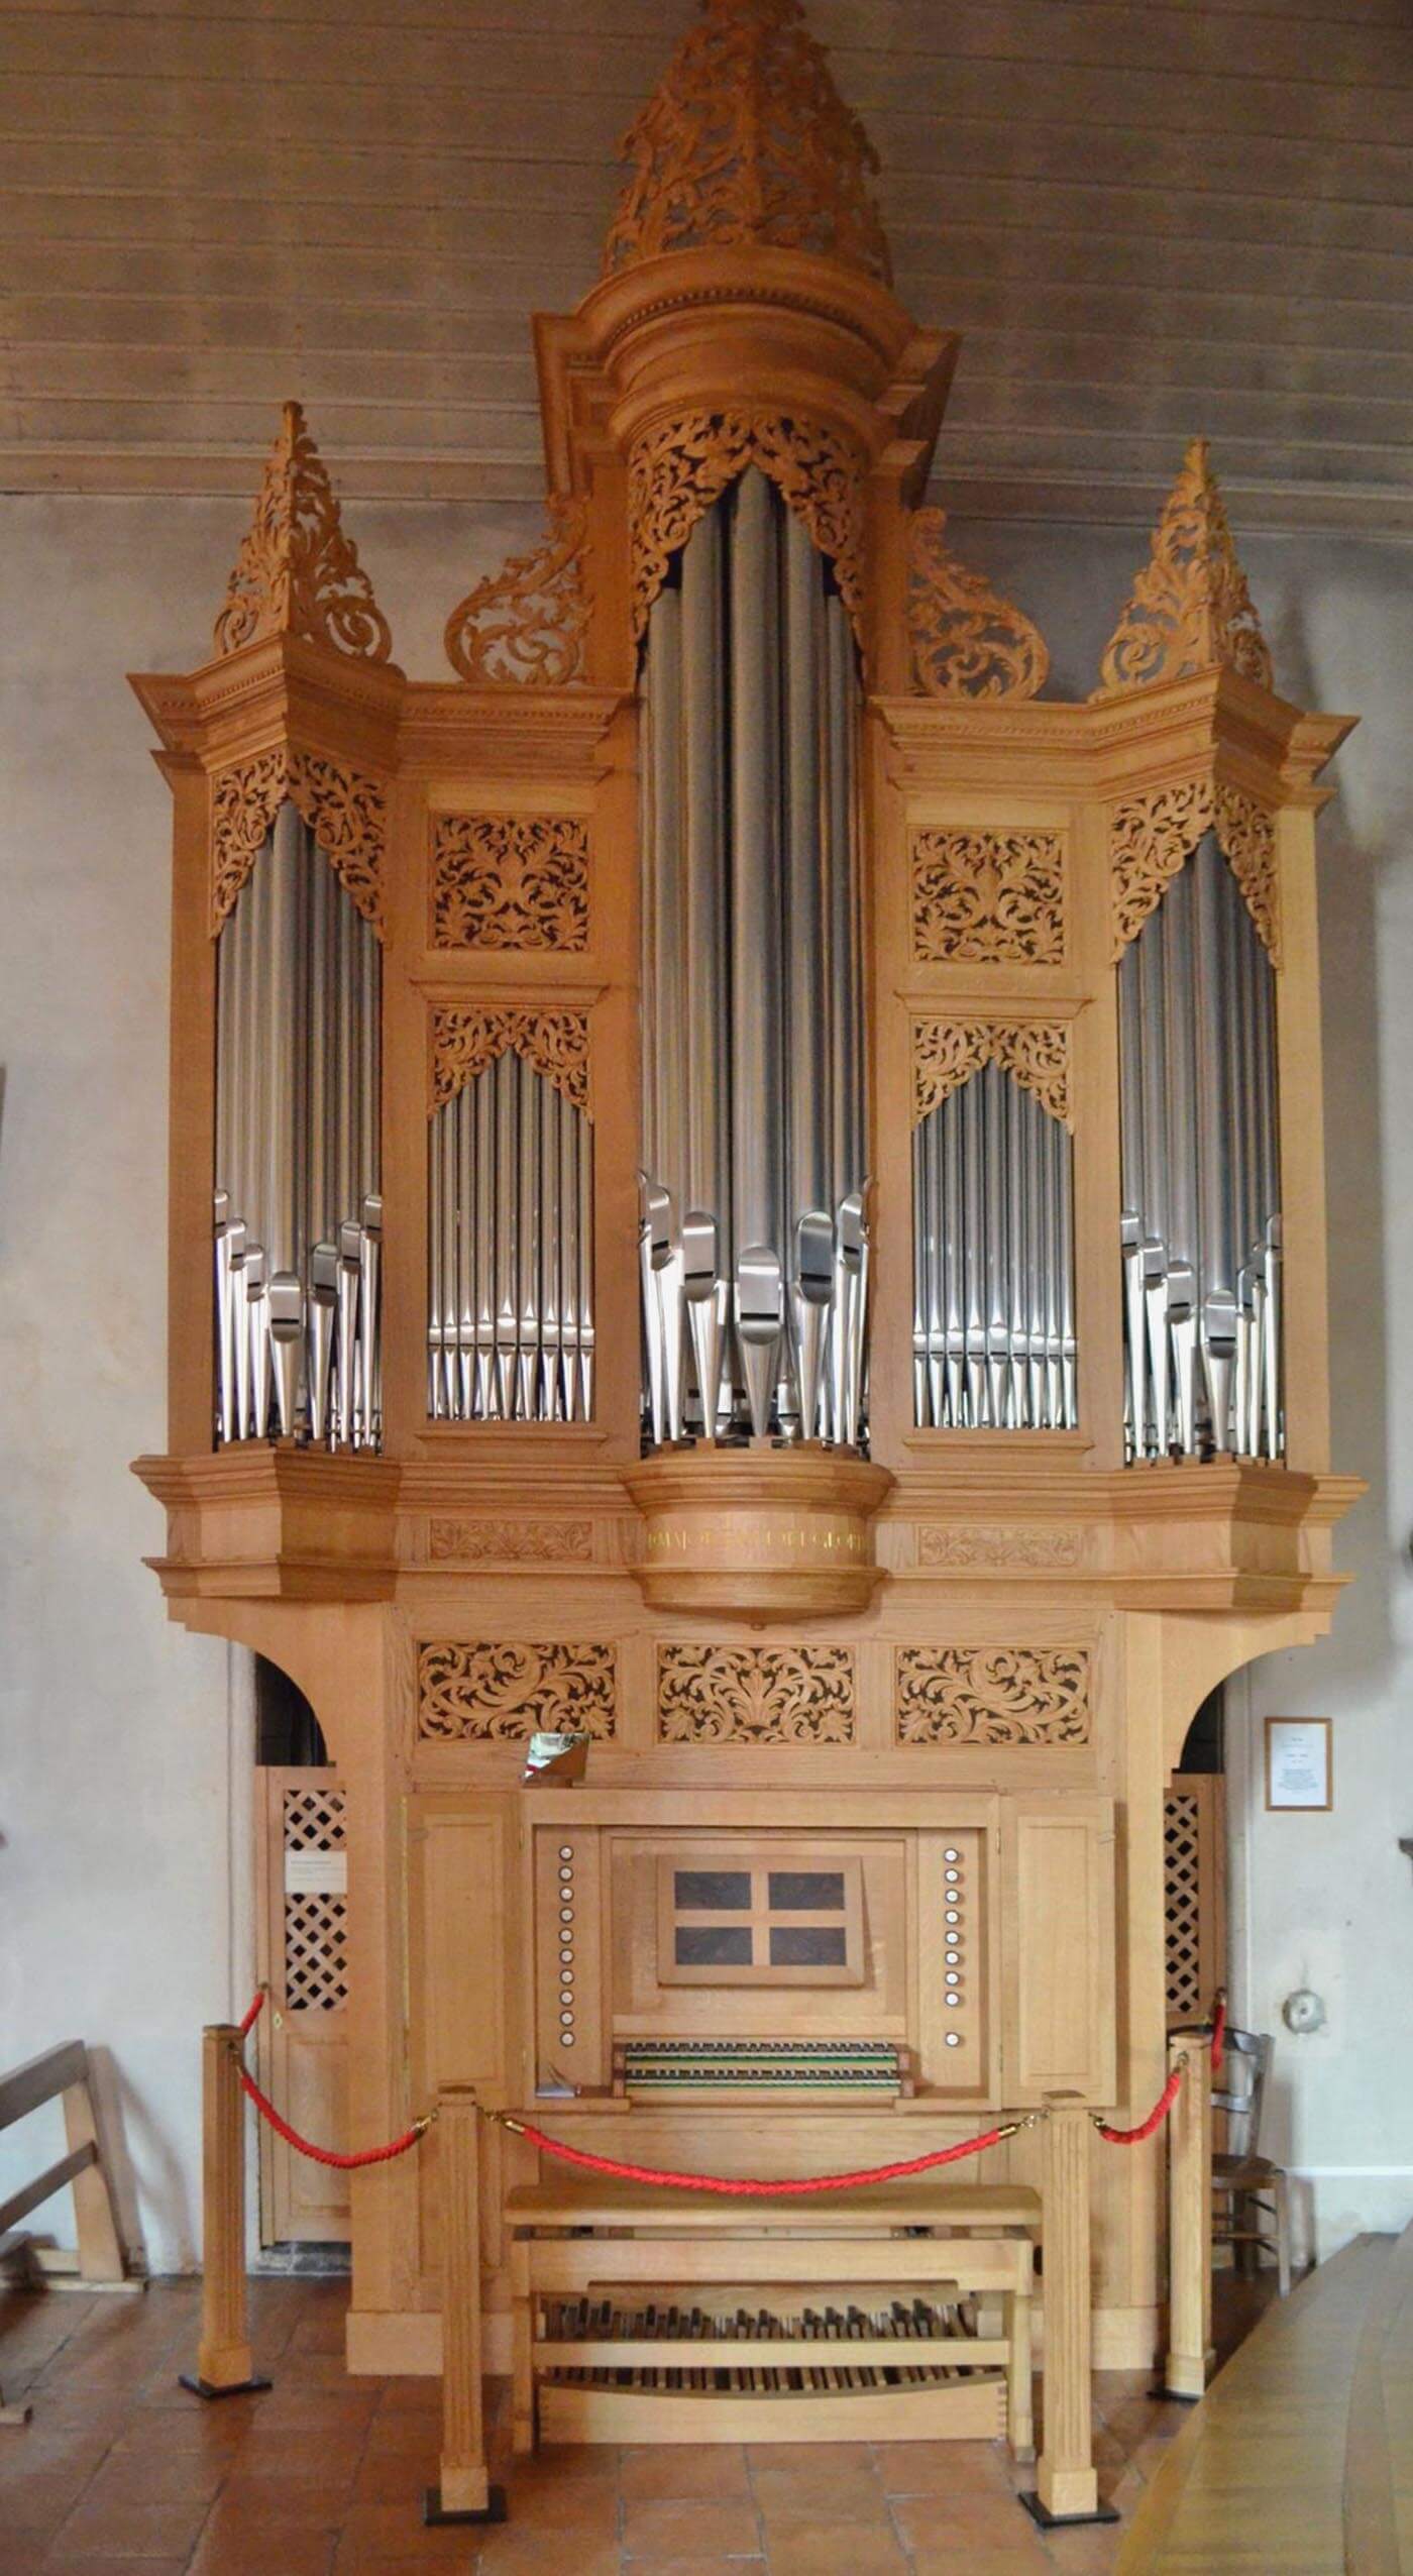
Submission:
[[605,1741],[618,1718],[613,1646],[422,1646],[417,1734],[430,1744],[520,1744],[533,1734]]

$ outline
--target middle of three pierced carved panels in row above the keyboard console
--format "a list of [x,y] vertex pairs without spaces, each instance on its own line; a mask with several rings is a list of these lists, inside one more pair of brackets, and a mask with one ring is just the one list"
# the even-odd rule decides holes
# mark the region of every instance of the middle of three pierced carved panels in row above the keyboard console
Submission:
[[659,1646],[661,1744],[852,1744],[847,1646]]

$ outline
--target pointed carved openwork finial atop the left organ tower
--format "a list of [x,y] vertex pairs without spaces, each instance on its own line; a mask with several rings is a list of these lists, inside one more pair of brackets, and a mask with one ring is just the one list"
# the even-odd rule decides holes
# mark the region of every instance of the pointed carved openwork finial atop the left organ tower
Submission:
[[340,526],[327,466],[299,402],[286,402],[250,533],[237,554],[216,652],[257,636],[309,636],[365,662],[386,662],[389,621]]

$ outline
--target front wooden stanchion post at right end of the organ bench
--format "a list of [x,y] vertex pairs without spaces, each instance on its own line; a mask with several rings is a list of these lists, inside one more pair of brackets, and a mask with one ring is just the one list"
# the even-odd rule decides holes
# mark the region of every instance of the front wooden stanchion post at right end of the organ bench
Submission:
[[1117,2522],[1099,2504],[1091,2429],[1091,2285],[1089,2285],[1089,2125],[1076,2094],[1045,2099],[1045,2166],[1040,2179],[1040,2264],[1045,2313],[1045,2442],[1035,2496],[1022,2496],[1040,2524]]

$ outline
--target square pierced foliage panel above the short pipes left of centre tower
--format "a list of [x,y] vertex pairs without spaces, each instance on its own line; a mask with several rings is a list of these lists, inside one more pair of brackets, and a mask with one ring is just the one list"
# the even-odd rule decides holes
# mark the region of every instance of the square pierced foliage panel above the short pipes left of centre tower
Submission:
[[571,814],[438,814],[432,948],[589,945],[589,827]]

